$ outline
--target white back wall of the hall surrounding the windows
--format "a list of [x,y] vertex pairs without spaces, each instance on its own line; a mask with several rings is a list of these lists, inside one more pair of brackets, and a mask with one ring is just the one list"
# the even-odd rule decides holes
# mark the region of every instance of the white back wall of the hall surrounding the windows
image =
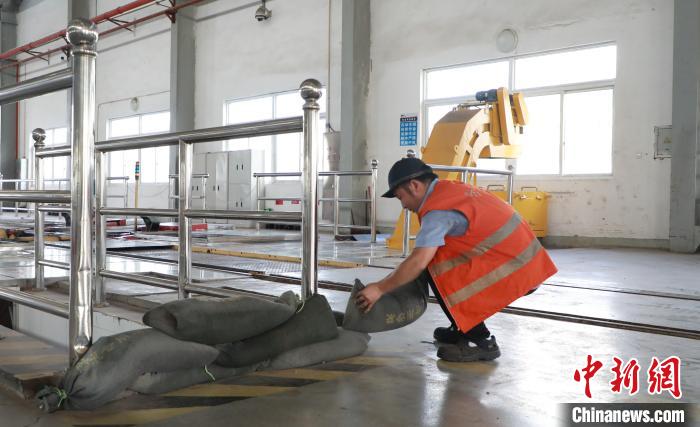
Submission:
[[[100,0],[97,13],[123,3]],[[340,1],[330,4],[331,123],[339,129]],[[246,0],[196,8],[196,126],[221,125],[226,100],[294,89],[308,77],[326,84],[328,5],[328,0],[269,1],[273,16],[263,23],[253,19],[257,5]],[[671,123],[672,2],[375,0],[371,14],[368,159],[380,161],[380,192],[389,167],[404,154],[399,116],[420,110],[423,69],[502,57],[495,37],[506,27],[518,32],[518,54],[613,41],[618,46],[613,176],[519,179],[516,185],[552,193],[551,235],[668,238],[670,161],[654,160],[652,151],[653,127]],[[65,17],[65,1],[25,0],[20,40],[64,27]],[[163,18],[100,41],[98,138],[108,118],[135,113],[132,97],[140,100],[138,113],[167,108],[168,28]],[[42,61],[33,64],[47,71]],[[57,56],[50,65],[60,64]],[[24,68],[25,74],[36,71]],[[55,127],[66,116],[64,97],[43,98],[23,103],[21,141],[33,127]],[[217,149],[213,144],[198,151]],[[393,223],[398,214],[398,203],[380,201],[380,222]]]

